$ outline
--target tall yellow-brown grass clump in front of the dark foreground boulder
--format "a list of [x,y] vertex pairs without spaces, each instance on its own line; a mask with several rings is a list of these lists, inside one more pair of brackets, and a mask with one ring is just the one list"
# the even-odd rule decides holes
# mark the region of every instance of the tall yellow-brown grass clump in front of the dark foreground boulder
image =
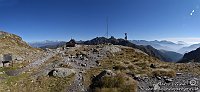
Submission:
[[137,92],[137,82],[126,75],[103,77],[94,89],[96,92]]

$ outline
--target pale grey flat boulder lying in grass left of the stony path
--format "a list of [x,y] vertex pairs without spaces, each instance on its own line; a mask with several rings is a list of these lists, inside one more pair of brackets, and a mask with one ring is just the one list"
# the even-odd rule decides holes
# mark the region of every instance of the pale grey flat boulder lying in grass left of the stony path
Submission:
[[54,77],[67,77],[71,74],[75,74],[76,72],[73,69],[69,68],[55,68],[52,71],[49,72],[49,76],[54,76]]

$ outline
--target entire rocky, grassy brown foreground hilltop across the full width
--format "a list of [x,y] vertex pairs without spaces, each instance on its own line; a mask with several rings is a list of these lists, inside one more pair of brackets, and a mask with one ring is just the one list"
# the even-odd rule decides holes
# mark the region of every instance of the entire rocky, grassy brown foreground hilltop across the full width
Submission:
[[1,54],[22,57],[0,68],[2,92],[198,92],[200,87],[199,63],[163,62],[150,54],[151,47],[123,39],[71,40],[41,50],[9,33],[1,37]]

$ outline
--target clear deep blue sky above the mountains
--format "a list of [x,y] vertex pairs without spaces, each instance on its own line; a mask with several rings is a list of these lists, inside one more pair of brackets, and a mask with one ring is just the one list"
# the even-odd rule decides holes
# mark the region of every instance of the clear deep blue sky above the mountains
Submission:
[[0,29],[25,41],[200,38],[200,0],[0,0]]

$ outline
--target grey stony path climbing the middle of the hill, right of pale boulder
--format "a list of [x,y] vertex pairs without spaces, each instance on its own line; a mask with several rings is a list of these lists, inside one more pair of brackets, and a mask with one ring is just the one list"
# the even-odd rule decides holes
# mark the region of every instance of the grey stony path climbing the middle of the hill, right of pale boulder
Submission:
[[[86,92],[87,87],[84,86],[84,77],[83,73],[87,71],[88,69],[92,67],[96,67],[97,63],[95,61],[103,59],[106,55],[105,52],[99,52],[99,53],[92,53],[89,51],[88,60],[80,60],[78,58],[74,58],[73,61],[70,62],[73,69],[76,71],[75,80],[72,82],[72,84],[69,86],[69,88],[66,90],[66,92]],[[99,57],[102,56],[102,57]],[[67,60],[67,58],[65,58]]]

